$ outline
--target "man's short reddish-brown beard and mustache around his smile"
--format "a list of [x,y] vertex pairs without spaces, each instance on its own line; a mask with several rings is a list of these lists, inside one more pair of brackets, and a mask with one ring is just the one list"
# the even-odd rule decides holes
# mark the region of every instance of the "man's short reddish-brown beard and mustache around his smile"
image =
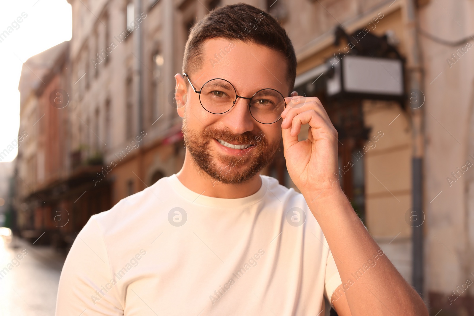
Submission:
[[[212,179],[226,184],[239,184],[248,181],[255,174],[273,161],[275,153],[280,150],[280,137],[269,143],[263,135],[254,135],[247,131],[233,134],[229,130],[218,130],[206,126],[204,131],[196,133],[188,129],[186,115],[182,121],[184,145],[191,153],[194,163]],[[237,155],[225,155],[209,148],[214,140],[227,143],[251,144]],[[252,148],[250,150],[250,148]]]

